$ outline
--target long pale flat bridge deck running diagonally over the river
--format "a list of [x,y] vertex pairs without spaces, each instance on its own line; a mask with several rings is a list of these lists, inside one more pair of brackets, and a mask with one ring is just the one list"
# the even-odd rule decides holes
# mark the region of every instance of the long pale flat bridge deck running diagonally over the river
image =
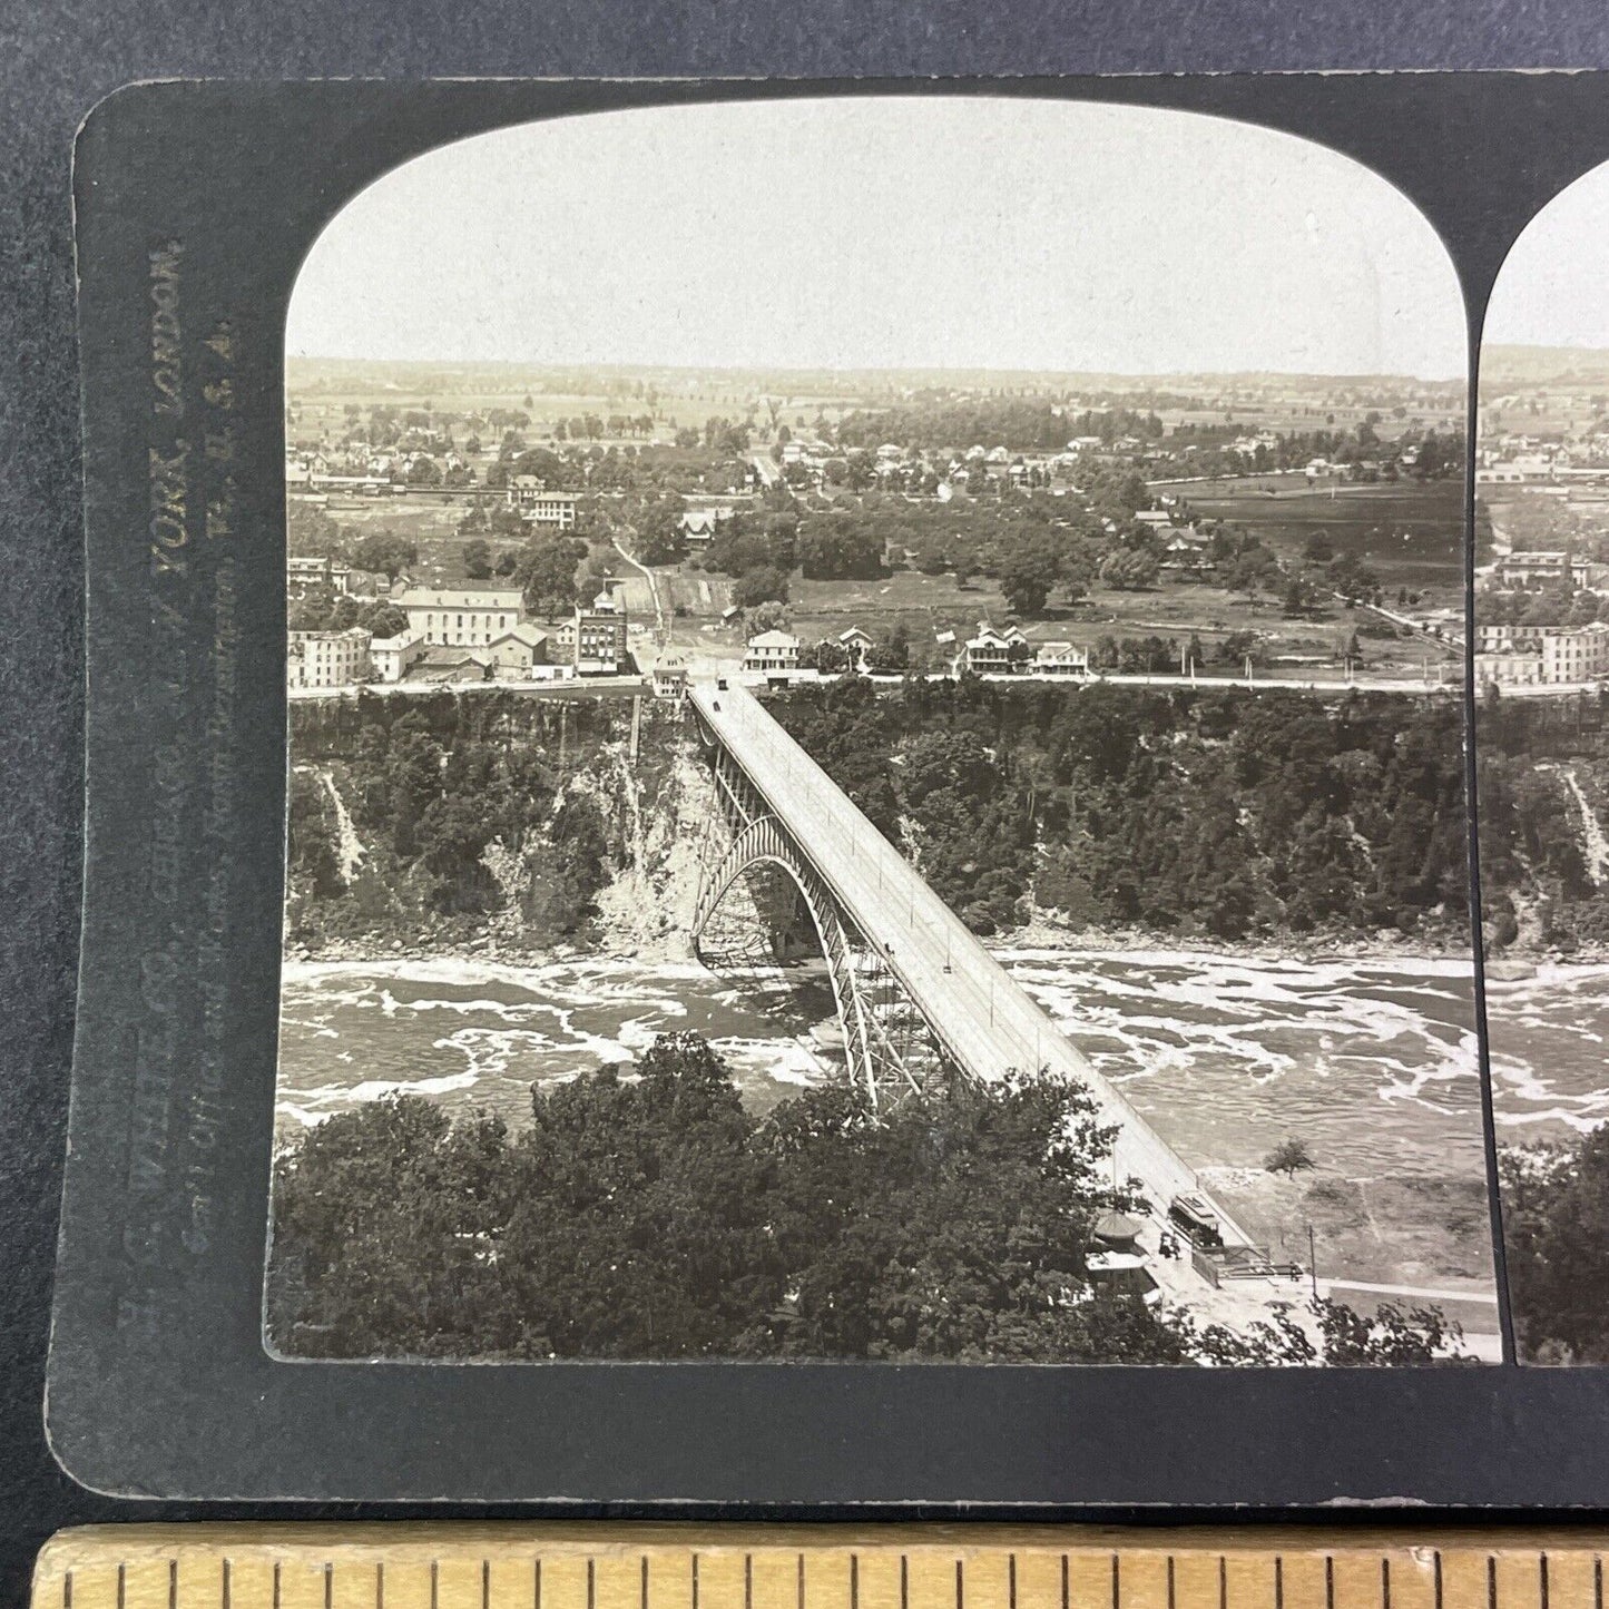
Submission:
[[[890,970],[940,1043],[973,1076],[1012,1070],[1078,1078],[1118,1128],[1113,1175],[1138,1178],[1152,1208],[1200,1192],[1181,1157],[1075,1049],[1051,1017],[978,943],[951,909],[753,695],[730,682],[697,681],[689,698],[743,767],[772,813],[811,856],[845,914],[887,957]],[[1224,1237],[1245,1234],[1220,1210]]]

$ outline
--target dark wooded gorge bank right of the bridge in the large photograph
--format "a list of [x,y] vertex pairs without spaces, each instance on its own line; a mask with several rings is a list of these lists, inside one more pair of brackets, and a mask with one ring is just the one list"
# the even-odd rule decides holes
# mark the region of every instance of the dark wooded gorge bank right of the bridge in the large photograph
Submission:
[[909,681],[772,713],[977,933],[1469,943],[1453,700]]

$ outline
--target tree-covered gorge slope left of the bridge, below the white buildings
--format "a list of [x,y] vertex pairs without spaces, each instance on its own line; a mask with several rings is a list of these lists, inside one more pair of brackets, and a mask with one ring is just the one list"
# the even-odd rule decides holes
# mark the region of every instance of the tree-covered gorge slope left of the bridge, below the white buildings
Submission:
[[674,821],[652,706],[642,730],[631,759],[631,702],[610,698],[291,705],[286,944],[584,943],[639,817]]

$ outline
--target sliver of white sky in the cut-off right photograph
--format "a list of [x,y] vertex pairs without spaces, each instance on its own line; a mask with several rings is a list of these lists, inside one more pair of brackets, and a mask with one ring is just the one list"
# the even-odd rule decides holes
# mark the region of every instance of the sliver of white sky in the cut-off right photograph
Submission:
[[1492,286],[1482,339],[1609,348],[1609,164],[1525,225]]

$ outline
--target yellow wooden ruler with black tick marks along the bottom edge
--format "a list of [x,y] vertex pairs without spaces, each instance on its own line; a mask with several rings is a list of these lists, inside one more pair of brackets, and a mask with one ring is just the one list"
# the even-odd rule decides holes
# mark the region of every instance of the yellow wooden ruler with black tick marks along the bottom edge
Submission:
[[34,1609],[1604,1609],[1609,1532],[95,1525]]

